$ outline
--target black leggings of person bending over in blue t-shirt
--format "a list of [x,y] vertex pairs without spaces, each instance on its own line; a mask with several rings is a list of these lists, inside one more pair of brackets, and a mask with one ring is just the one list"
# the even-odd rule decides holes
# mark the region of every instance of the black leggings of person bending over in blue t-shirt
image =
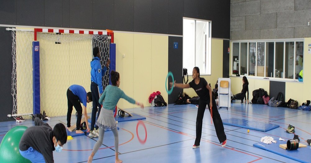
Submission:
[[79,101],[79,97],[74,95],[69,88],[67,89],[67,100],[68,100],[68,112],[67,112],[67,127],[70,127],[72,106],[75,107],[77,115],[77,130],[80,130],[81,117],[82,117],[82,107]]

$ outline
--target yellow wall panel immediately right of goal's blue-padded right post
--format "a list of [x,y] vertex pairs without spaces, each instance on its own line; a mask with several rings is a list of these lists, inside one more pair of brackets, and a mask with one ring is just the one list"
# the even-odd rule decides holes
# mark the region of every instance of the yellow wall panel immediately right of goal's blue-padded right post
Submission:
[[[116,71],[120,73],[120,88],[129,97],[134,96],[133,91],[133,39],[134,34],[115,33],[114,43],[116,44]],[[124,58],[123,58],[124,55]],[[133,104],[124,99],[118,102],[120,108],[132,108]]]

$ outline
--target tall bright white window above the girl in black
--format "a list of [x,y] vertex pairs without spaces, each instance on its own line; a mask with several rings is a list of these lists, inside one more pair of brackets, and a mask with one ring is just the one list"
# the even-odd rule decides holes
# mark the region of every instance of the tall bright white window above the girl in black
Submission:
[[211,21],[183,19],[183,67],[211,74]]

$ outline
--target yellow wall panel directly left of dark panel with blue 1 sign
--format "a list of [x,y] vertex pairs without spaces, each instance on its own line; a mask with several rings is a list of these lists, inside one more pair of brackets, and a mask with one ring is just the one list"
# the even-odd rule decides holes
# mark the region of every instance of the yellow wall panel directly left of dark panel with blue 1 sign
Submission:
[[[151,36],[151,92],[160,91],[165,102],[168,94],[165,90],[165,79],[168,70],[168,36]],[[168,88],[169,89],[169,88]],[[148,96],[149,97],[149,96]],[[149,102],[148,102],[149,105]]]

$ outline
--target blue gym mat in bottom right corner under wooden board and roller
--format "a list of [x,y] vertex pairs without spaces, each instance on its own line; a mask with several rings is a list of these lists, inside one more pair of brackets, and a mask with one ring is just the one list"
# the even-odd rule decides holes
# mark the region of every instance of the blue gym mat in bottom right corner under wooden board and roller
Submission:
[[258,147],[260,149],[267,150],[272,153],[276,153],[278,155],[299,161],[304,163],[310,163],[310,155],[311,147],[308,145],[307,147],[298,148],[297,150],[285,150],[279,147],[280,144],[286,144],[285,141],[278,141],[272,144],[265,144],[265,143],[254,143],[254,147]]

